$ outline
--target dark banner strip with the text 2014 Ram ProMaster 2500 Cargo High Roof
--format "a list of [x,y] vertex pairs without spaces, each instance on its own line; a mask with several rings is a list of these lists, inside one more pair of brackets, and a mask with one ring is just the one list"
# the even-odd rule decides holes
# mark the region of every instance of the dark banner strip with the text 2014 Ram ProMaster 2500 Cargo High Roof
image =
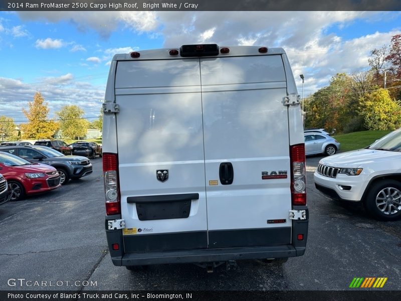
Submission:
[[[399,0],[0,0],[0,11],[400,11]],[[222,16],[224,18],[224,16]]]

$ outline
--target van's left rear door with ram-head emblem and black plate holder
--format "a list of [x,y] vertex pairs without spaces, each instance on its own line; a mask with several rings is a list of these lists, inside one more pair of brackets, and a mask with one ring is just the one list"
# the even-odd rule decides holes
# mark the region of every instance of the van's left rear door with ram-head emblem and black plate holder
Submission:
[[207,248],[199,59],[118,61],[124,251]]

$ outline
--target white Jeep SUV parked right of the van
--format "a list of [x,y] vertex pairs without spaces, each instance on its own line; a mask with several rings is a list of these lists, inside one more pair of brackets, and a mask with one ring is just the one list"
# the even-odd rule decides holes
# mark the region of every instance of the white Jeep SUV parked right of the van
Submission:
[[316,188],[335,200],[363,202],[380,220],[401,217],[401,128],[369,147],[320,160]]

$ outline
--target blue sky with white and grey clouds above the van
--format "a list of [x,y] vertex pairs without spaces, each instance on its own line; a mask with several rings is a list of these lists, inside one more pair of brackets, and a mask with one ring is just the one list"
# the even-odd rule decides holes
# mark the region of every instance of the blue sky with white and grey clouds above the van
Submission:
[[0,115],[26,120],[40,91],[49,117],[74,103],[94,120],[113,54],[191,43],[283,47],[306,96],[399,33],[400,12],[0,12]]

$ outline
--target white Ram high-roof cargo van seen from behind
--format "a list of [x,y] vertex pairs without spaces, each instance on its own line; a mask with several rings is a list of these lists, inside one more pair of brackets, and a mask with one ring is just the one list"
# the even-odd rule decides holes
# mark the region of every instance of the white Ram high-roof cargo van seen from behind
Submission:
[[283,49],[117,54],[103,108],[115,265],[210,267],[304,254],[304,135]]

